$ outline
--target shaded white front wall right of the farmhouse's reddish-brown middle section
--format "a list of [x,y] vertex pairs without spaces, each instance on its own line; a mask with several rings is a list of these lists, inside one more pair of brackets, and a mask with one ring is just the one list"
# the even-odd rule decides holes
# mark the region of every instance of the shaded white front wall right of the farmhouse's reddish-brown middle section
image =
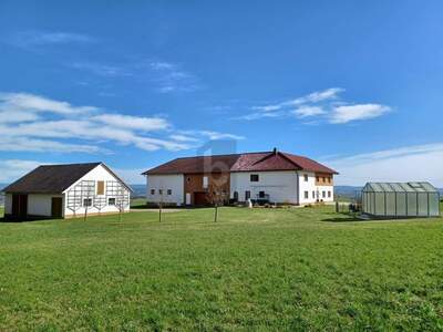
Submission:
[[[258,174],[258,181],[250,181],[250,175]],[[230,174],[230,198],[238,193],[238,200],[245,201],[245,191],[250,190],[250,198],[256,199],[259,191],[269,195],[272,203],[297,204],[297,173],[281,172],[238,172]]]

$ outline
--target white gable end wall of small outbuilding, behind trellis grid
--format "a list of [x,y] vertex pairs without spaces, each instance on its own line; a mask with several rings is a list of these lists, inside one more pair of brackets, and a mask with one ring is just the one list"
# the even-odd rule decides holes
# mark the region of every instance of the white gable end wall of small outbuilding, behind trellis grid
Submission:
[[[74,187],[76,184],[79,184],[82,180],[94,180],[95,181],[95,190],[97,188],[97,181],[104,181],[104,193],[106,193],[106,181],[120,181],[113,174],[111,174],[105,167],[102,165],[99,165],[94,169],[92,169],[90,173],[84,175],[82,178],[80,178],[75,184],[73,184],[71,187]],[[70,188],[65,190],[69,191]],[[125,195],[128,196],[128,200],[131,200],[131,193],[130,190],[125,190]],[[105,195],[102,195],[102,197],[105,197]],[[107,198],[111,198],[112,196],[109,196]],[[73,210],[68,208],[68,201],[66,199],[64,200],[64,215],[65,216],[72,216],[72,215],[84,215],[85,212],[85,207],[81,207],[78,210],[75,210],[75,214]],[[94,205],[94,204],[93,204]],[[125,211],[130,210],[130,205],[127,205],[124,209]],[[94,206],[87,207],[87,212],[89,214],[107,214],[107,212],[119,212],[119,208],[116,206],[107,205],[104,206],[102,209],[99,209]]]

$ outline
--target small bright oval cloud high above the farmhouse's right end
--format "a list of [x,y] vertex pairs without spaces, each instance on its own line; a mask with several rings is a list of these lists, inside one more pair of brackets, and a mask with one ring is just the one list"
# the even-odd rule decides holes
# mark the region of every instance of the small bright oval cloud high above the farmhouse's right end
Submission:
[[332,110],[330,122],[344,124],[352,121],[379,117],[391,111],[391,107],[381,104],[357,104],[337,106]]

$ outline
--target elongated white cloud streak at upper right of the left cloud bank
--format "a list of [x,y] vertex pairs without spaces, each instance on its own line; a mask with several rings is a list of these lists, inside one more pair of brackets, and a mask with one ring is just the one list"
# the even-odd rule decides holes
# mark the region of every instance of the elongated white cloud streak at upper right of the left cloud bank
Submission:
[[101,114],[93,117],[99,122],[130,129],[141,129],[145,132],[161,131],[169,127],[169,123],[161,117],[140,117],[122,114]]

